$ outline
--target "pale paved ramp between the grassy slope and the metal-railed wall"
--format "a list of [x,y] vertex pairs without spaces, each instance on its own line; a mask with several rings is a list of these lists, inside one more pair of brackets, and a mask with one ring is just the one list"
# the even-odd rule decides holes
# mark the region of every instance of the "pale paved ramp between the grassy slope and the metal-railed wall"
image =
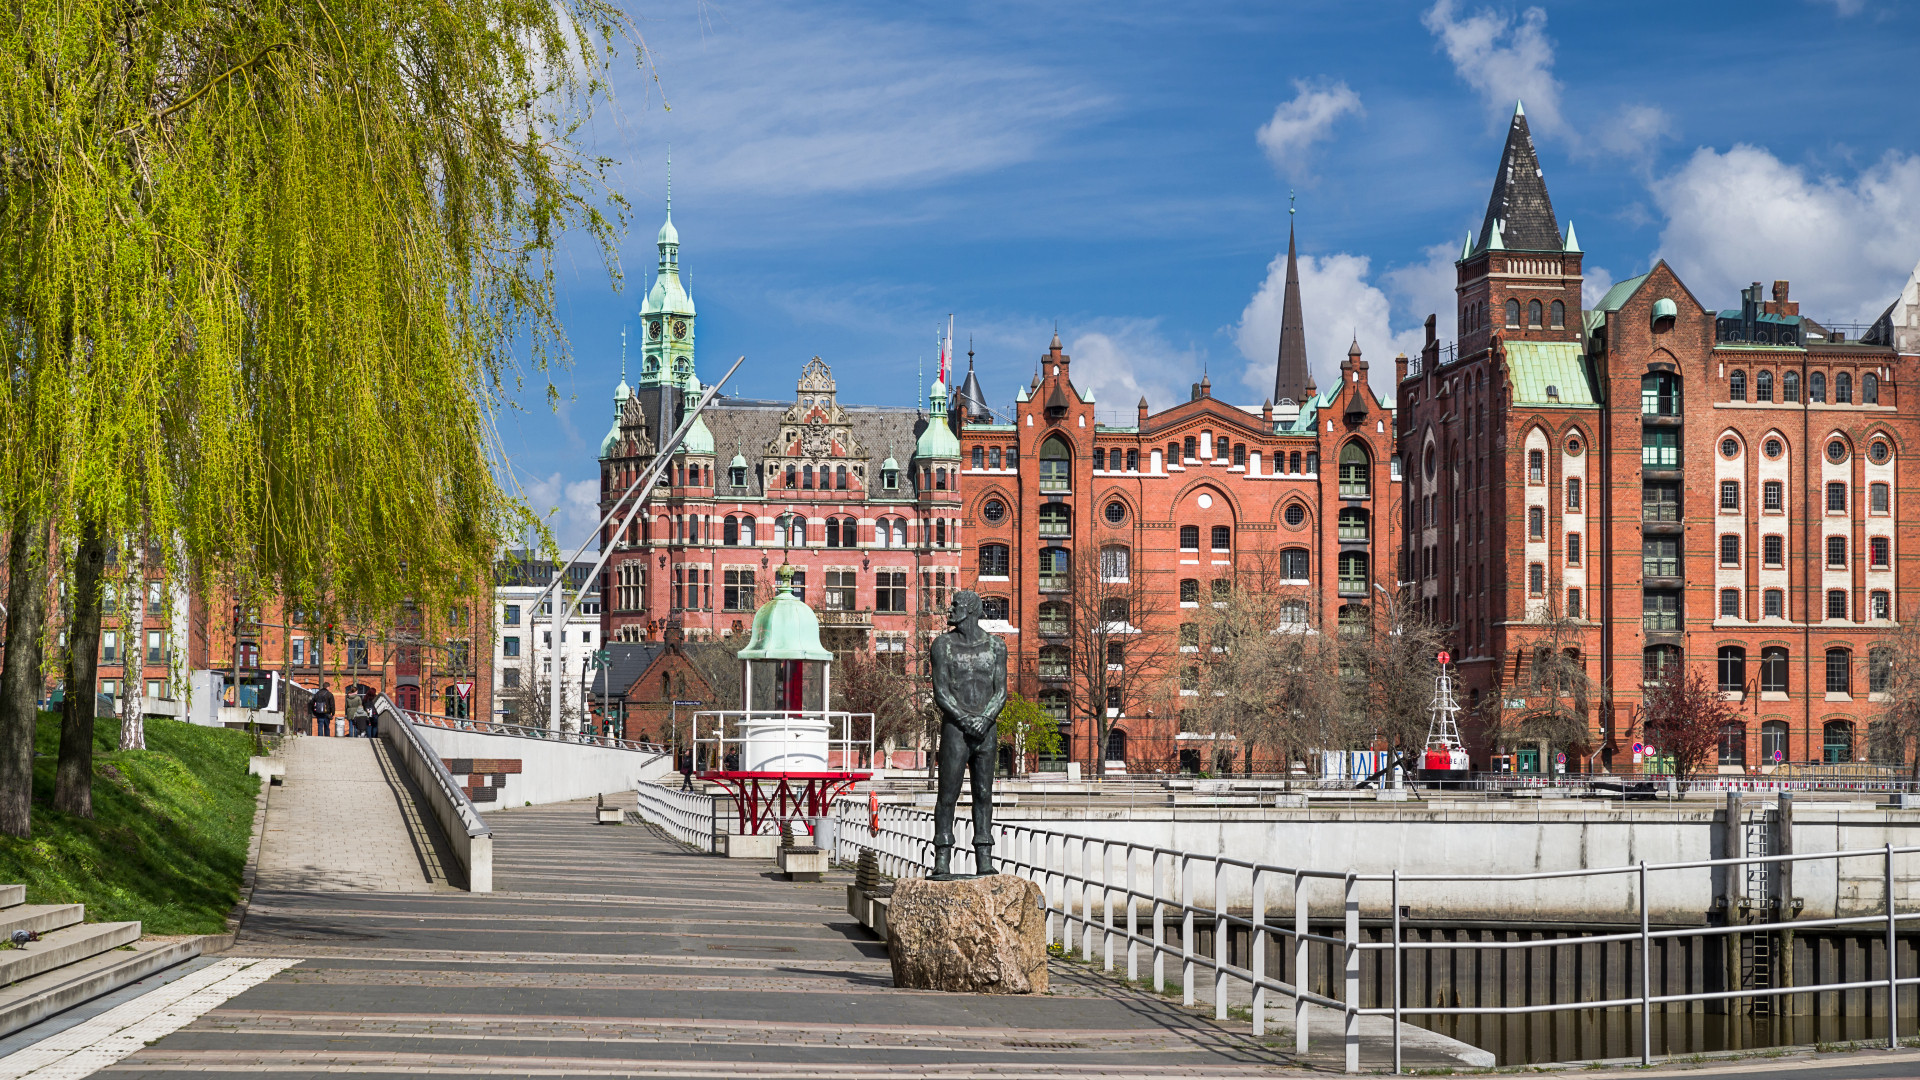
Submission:
[[428,892],[445,884],[386,744],[288,738],[286,782],[267,794],[261,892]]

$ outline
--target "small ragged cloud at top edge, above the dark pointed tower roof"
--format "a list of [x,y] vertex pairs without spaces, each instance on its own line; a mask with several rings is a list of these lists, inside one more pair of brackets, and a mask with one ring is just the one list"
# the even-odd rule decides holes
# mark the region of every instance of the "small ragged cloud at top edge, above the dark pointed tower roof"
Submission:
[[1528,129],[1536,135],[1557,135],[1561,121],[1561,85],[1553,79],[1553,40],[1548,37],[1548,13],[1540,8],[1511,15],[1480,8],[1455,17],[1453,0],[1438,0],[1421,15],[1446,50],[1453,71],[1486,102],[1494,117],[1505,119],[1513,102],[1526,102]]

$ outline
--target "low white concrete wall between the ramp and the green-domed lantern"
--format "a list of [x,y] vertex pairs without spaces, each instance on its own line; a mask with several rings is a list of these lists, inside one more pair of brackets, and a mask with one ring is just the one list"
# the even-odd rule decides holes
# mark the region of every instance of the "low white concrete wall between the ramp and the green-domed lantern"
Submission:
[[430,724],[413,724],[413,732],[442,763],[449,763],[455,778],[465,776],[463,786],[480,811],[632,792],[643,782],[664,782],[674,771],[674,759],[664,751]]

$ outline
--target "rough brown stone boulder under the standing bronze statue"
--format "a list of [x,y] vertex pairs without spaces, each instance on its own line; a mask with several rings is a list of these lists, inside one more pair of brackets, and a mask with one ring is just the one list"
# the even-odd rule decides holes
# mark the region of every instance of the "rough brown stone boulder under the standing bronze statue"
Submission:
[[887,909],[893,984],[962,994],[1046,994],[1041,886],[1014,874],[906,878]]

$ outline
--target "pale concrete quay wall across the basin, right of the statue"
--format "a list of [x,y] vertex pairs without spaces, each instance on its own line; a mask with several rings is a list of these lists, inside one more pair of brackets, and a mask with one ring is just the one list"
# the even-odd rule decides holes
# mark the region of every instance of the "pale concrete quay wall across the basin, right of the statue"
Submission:
[[[1745,853],[1751,828],[1768,828],[1770,803],[1747,801],[1730,830],[1724,801],[1699,799],[1678,807],[1645,803],[1578,801],[1503,805],[1442,799],[1436,803],[1342,805],[1338,809],[1254,807],[1114,807],[1002,805],[1000,824],[1033,824],[1073,836],[1125,840],[1196,855],[1223,853],[1281,867],[1390,874],[1530,874],[1551,871],[1609,869],[1645,863],[1690,863]],[[1872,803],[1824,803],[1799,799],[1793,811],[1795,853],[1920,846],[1920,811],[1891,811]],[[1734,836],[1732,851],[1728,838]],[[1102,872],[1098,846],[1054,842],[1039,857],[1023,842],[1000,838],[996,855],[1039,861],[1073,872],[1091,861]],[[1066,851],[1062,851],[1066,847]],[[1778,849],[1778,842],[1772,846]],[[1062,863],[1066,859],[1066,863]],[[1730,874],[1732,871],[1732,874]],[[1177,896],[1173,861],[1160,861],[1162,896]],[[1135,880],[1144,888],[1146,853],[1135,855]],[[1701,924],[1720,897],[1747,892],[1740,867],[1661,871],[1647,874],[1649,919],[1667,926]],[[1125,882],[1125,861],[1114,853],[1114,882]],[[1308,886],[1315,920],[1338,919],[1344,884],[1319,880]],[[1361,915],[1390,913],[1392,886],[1356,886]],[[1192,896],[1215,901],[1212,865],[1194,867]],[[1799,863],[1791,876],[1801,919],[1876,915],[1885,909],[1884,857]],[[1252,874],[1229,867],[1221,872],[1219,901],[1246,911],[1254,903]],[[1292,913],[1290,878],[1267,880],[1269,919]],[[1638,924],[1638,872],[1549,878],[1532,882],[1402,882],[1400,903],[1417,920],[1542,920],[1576,924]],[[1920,853],[1895,857],[1895,903],[1920,907]]]

